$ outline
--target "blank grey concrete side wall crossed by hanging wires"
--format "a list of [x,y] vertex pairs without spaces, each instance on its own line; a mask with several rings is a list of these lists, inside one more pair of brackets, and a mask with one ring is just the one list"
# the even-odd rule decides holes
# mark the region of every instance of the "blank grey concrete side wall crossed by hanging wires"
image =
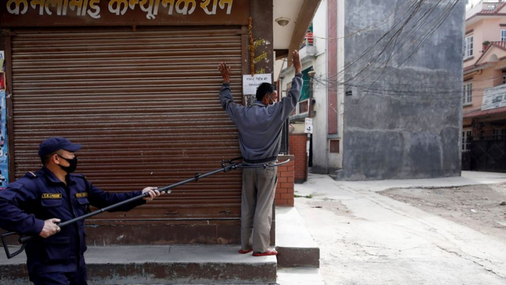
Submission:
[[[345,96],[344,101],[343,170],[337,172],[336,179],[460,175],[462,111],[459,90],[462,87],[465,2],[461,1],[427,43],[402,64],[406,59],[404,53],[414,52],[410,46],[416,43],[416,37],[426,34],[424,28],[416,35],[408,26],[390,45],[387,44],[390,36],[381,37],[395,23],[395,18],[403,18],[402,13],[413,3],[415,1],[409,0],[345,2],[345,34],[398,10],[387,24],[345,39],[344,87],[352,95]],[[422,6],[415,20],[428,8]],[[429,17],[441,16],[446,8],[440,5]],[[379,44],[350,65],[377,40]],[[384,48],[385,53],[374,62],[374,54]],[[387,61],[383,72],[382,63]],[[368,64],[368,68],[359,73]],[[388,75],[378,79],[380,74]]]

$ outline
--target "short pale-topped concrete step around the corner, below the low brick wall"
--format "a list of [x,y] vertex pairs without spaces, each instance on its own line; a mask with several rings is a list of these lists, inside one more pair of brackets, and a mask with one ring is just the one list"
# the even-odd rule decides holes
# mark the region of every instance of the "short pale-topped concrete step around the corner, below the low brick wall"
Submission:
[[299,212],[293,207],[276,207],[278,267],[320,267],[320,249]]

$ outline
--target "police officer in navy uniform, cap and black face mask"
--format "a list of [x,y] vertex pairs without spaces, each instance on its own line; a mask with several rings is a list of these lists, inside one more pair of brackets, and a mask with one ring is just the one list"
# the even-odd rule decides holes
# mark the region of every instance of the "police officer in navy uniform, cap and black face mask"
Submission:
[[129,211],[160,192],[147,187],[131,193],[109,193],[73,174],[74,152],[81,145],[61,137],[44,140],[38,155],[43,167],[10,183],[0,191],[0,227],[37,236],[26,245],[30,281],[35,285],[86,285],[84,221],[60,228],[57,223],[86,214],[89,205],[104,208],[149,192],[149,197],[115,209]]

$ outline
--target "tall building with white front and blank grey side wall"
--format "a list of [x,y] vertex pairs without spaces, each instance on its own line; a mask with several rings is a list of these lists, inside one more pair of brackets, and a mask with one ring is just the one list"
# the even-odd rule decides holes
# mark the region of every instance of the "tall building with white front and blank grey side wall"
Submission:
[[[312,171],[339,180],[460,175],[455,142],[466,3],[408,3],[327,0],[320,6],[326,11],[313,21],[316,51],[303,64],[315,71]],[[305,103],[299,104],[293,123],[305,116]]]

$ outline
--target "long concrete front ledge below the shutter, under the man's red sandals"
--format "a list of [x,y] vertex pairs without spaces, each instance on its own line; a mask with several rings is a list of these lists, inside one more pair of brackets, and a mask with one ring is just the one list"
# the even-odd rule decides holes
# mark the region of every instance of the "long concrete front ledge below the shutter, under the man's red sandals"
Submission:
[[[90,285],[275,284],[276,257],[241,255],[232,246],[90,247]],[[0,257],[2,285],[28,284],[26,256]]]

